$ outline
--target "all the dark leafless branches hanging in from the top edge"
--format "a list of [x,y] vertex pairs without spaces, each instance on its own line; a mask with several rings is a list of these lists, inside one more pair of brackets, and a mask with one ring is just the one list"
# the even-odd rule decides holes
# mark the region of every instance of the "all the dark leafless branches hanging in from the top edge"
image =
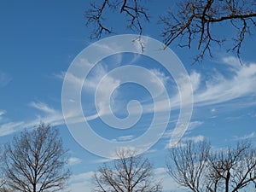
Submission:
[[[113,26],[108,27],[107,24],[108,15],[113,12],[126,15],[127,27],[137,30],[140,35],[143,33],[143,20],[149,21],[146,1],[96,2],[98,3],[91,3],[90,8],[85,11],[87,25],[93,26],[91,38],[101,38],[102,33],[113,33]],[[179,38],[179,46],[191,48],[192,42],[195,41],[199,49],[195,61],[202,61],[206,52],[212,56],[212,45],[222,45],[226,40],[234,43],[227,50],[235,51],[240,58],[241,44],[246,35],[250,35],[256,28],[256,3],[255,0],[177,1],[176,9],[172,7],[166,13],[163,11],[158,24],[163,24],[160,36],[164,38],[166,46]],[[218,27],[222,27],[221,25],[230,26],[230,31],[233,31],[230,36],[220,35]]]

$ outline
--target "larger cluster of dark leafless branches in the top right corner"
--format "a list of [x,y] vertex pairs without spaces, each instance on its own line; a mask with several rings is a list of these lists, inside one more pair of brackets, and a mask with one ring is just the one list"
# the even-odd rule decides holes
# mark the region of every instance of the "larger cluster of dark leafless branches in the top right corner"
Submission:
[[255,29],[256,10],[252,2],[185,0],[177,5],[177,13],[169,11],[167,15],[160,16],[160,23],[165,26],[161,36],[165,39],[166,46],[181,38],[185,39],[184,42],[189,48],[192,40],[196,39],[200,53],[195,57],[195,61],[202,61],[206,51],[212,56],[213,43],[221,45],[226,40],[224,37],[213,38],[219,27],[217,24],[230,22],[230,26],[233,26],[230,30],[235,30],[237,35],[232,38],[234,46],[228,50],[236,52],[240,58],[241,44],[245,36]]

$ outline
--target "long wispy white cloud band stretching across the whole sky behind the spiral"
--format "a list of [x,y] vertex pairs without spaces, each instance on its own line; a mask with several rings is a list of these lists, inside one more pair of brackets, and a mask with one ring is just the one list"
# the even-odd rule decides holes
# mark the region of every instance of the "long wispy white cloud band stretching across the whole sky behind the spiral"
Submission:
[[[229,76],[225,76],[220,72],[216,72],[212,74],[212,77],[204,77],[203,73],[198,73],[196,71],[192,71],[190,73],[190,81],[193,85],[194,90],[194,106],[195,108],[202,108],[210,105],[216,105],[224,102],[232,102],[237,99],[241,99],[241,102],[244,98],[252,97],[256,95],[256,63],[246,63],[246,65],[241,66],[239,61],[237,61],[234,57],[224,57],[222,62],[225,65],[226,70],[229,72]],[[165,73],[161,73],[158,69],[149,69],[154,75],[160,79],[160,82],[165,86],[172,86],[170,84],[170,77],[168,77]],[[61,73],[58,75],[59,78],[63,79],[65,73]],[[3,76],[3,75],[2,75]],[[119,90],[115,90],[112,101],[109,102],[106,98],[106,95],[109,95],[109,86],[118,87],[120,85],[120,80],[115,77],[108,76],[108,68],[103,66],[96,67],[94,73],[91,73],[89,79],[78,79],[74,77],[72,74],[69,74],[73,82],[73,85],[84,83],[83,91],[85,94],[93,95],[95,90],[97,89],[97,84],[101,81],[102,77],[105,77],[105,87],[106,89],[100,90],[100,98],[102,102],[96,103],[99,108],[99,113],[91,113],[87,117],[87,120],[93,120],[101,117],[101,115],[106,115],[108,106],[107,104],[113,104],[112,109],[115,113],[122,113],[123,105],[122,101],[119,101],[119,98],[122,98],[122,93]],[[181,79],[182,80],[182,79]],[[153,82],[154,83],[154,82]],[[159,86],[156,86],[159,87]],[[85,89],[86,88],[86,89]],[[185,88],[185,86],[184,86]],[[158,88],[160,89],[160,88]],[[159,91],[161,92],[161,91]],[[169,101],[159,100],[156,103],[148,103],[148,101],[141,102],[143,106],[143,113],[159,113],[165,112],[169,110],[166,108],[166,102],[171,102],[172,110],[178,110],[180,107],[180,96],[178,91],[173,94],[169,93],[170,98]],[[91,104],[91,103],[90,103]],[[252,103],[256,104],[256,102]],[[154,111],[154,105],[158,105],[159,111]],[[9,135],[14,133],[15,131],[20,131],[21,129],[32,127],[37,125],[39,121],[44,121],[45,123],[50,123],[52,125],[64,125],[65,121],[63,119],[63,115],[61,110],[56,110],[55,108],[50,108],[49,105],[43,102],[31,102],[30,106],[32,108],[38,109],[39,112],[43,113],[43,115],[38,115],[36,119],[32,119],[29,122],[17,121],[12,122],[9,121],[1,125],[0,128],[0,136]],[[238,108],[238,107],[236,107]],[[95,111],[95,109],[94,109]],[[0,119],[3,118],[4,110],[0,110]],[[129,108],[129,113],[137,114],[137,108]],[[73,119],[73,122],[81,122],[84,120],[77,117],[77,112],[70,113],[66,118]]]

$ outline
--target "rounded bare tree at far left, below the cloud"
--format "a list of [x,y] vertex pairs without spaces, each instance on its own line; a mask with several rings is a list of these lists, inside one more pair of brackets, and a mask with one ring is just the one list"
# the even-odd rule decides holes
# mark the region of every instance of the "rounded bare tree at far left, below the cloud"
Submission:
[[22,192],[59,191],[70,176],[67,150],[55,128],[43,123],[22,131],[5,146],[3,173],[6,189]]

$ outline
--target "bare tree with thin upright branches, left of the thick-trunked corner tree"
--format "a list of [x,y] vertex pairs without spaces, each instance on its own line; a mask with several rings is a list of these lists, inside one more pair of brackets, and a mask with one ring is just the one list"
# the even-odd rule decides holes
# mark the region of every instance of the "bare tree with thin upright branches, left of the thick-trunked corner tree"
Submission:
[[188,141],[185,147],[180,144],[170,149],[166,163],[167,172],[184,188],[199,192],[204,187],[209,154],[210,145],[206,141],[200,143]]

